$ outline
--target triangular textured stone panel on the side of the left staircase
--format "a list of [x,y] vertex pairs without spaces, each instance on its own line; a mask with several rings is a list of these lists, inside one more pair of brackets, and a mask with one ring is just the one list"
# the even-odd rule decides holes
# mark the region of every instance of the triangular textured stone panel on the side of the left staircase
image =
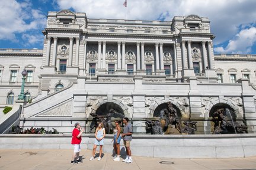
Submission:
[[62,104],[62,106],[56,107],[49,112],[42,113],[39,116],[72,116],[72,104],[71,102]]

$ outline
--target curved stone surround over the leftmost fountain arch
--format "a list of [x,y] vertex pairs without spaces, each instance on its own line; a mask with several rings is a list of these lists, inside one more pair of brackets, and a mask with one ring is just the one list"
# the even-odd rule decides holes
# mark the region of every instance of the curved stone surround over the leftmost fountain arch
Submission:
[[111,99],[111,100],[108,100],[107,97],[104,99],[104,98],[100,98],[97,100],[97,102],[95,102],[94,104],[92,104],[91,106],[91,112],[94,112],[96,113],[97,110],[105,103],[114,103],[116,104],[116,106],[120,107],[119,110],[117,111],[120,111],[121,113],[123,113],[124,117],[129,117],[131,118],[132,117],[132,114],[130,114],[128,112],[128,106],[126,104],[124,104],[122,102],[121,99]]

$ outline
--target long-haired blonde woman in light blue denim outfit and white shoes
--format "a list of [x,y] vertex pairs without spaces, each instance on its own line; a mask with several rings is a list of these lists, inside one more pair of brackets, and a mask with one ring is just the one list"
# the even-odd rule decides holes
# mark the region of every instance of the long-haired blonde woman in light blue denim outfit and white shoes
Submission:
[[104,145],[104,137],[105,137],[105,128],[103,127],[103,123],[100,122],[98,125],[98,128],[95,130],[95,142],[94,142],[94,148],[92,149],[92,157],[89,159],[92,161],[95,156],[95,151],[97,146],[100,146],[100,155],[98,157],[98,161],[101,160],[101,154],[103,152],[103,145]]

